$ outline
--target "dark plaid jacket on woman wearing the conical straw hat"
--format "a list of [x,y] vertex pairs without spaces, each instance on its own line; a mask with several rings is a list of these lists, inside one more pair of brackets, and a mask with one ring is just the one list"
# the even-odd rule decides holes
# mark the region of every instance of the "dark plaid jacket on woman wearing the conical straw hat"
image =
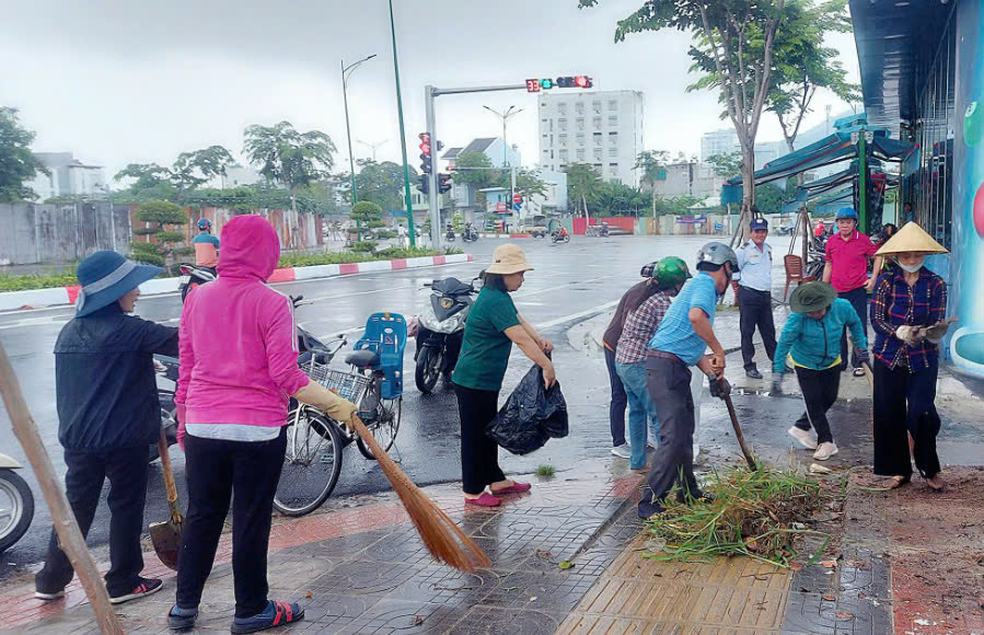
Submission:
[[892,267],[878,277],[871,299],[875,357],[889,368],[899,363],[907,365],[911,372],[928,368],[939,358],[939,346],[928,339],[910,346],[895,337],[895,328],[903,324],[931,326],[946,314],[947,284],[942,278],[923,267],[916,284],[910,287],[902,269]]

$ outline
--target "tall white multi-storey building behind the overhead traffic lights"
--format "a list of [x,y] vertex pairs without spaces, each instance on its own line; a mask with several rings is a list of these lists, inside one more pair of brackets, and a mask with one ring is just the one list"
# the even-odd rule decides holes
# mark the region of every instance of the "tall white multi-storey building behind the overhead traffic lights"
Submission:
[[569,163],[588,163],[605,181],[638,187],[633,166],[643,151],[641,92],[540,93],[537,103],[537,164],[560,172]]

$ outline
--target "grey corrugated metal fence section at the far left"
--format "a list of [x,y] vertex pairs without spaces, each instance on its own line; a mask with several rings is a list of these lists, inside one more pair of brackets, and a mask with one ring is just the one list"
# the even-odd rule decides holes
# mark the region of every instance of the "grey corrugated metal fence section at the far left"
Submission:
[[129,205],[0,204],[0,265],[70,263],[97,250],[130,251]]

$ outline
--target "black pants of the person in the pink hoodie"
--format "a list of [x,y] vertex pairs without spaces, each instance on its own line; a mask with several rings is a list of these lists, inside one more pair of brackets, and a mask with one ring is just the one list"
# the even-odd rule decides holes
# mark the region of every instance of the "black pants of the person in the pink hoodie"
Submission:
[[201,601],[230,498],[235,616],[248,617],[266,608],[270,515],[286,449],[286,427],[276,439],[261,442],[185,437],[188,513],[181,532],[176,598],[182,609]]

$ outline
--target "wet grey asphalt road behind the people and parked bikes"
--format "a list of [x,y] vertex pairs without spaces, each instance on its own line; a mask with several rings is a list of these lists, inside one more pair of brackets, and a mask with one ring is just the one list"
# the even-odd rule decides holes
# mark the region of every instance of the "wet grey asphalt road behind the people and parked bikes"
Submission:
[[[491,251],[501,240],[481,240],[467,245],[475,262],[379,274],[362,274],[275,285],[293,296],[303,295],[313,304],[298,309],[302,326],[317,336],[348,333],[358,338],[366,318],[381,310],[416,314],[429,301],[424,282],[455,276],[466,280],[483,268]],[[600,359],[589,359],[571,348],[567,330],[579,321],[611,308],[624,290],[639,279],[639,268],[655,258],[678,254],[687,261],[704,242],[699,238],[660,239],[612,236],[607,239],[575,238],[569,244],[552,245],[541,240],[522,240],[528,257],[535,267],[526,275],[524,286],[513,295],[520,313],[551,337],[557,345],[557,374],[571,408],[571,435],[552,441],[547,448],[529,457],[505,457],[507,471],[532,471],[541,463],[552,464],[559,473],[574,469],[578,459],[605,455],[611,444],[607,432],[607,376]],[[147,297],[137,312],[148,320],[177,324],[181,301],[176,295]],[[20,311],[0,314],[0,342],[7,348],[25,392],[27,403],[49,449],[59,475],[63,473],[57,439],[57,415],[54,400],[54,356],[51,349],[62,324],[69,319],[68,308]],[[221,337],[221,325],[216,326]],[[340,365],[346,349],[336,358]],[[404,408],[397,448],[403,469],[418,484],[456,481],[461,477],[458,447],[458,409],[453,392],[439,390],[421,395],[413,384],[410,343],[405,354]],[[514,354],[506,380],[503,399],[511,385],[526,371],[529,362]],[[0,448],[25,462],[23,451],[13,437],[7,413],[0,409]],[[171,451],[178,490],[184,490],[184,459],[177,448]],[[0,579],[12,569],[23,569],[44,557],[50,516],[36,481],[27,470],[22,474],[35,492],[37,510],[28,533],[0,559]],[[343,472],[333,498],[389,489],[389,482],[374,462],[364,460],[355,447],[346,448]],[[166,504],[160,465],[151,465],[146,519],[166,518]],[[90,544],[100,549],[108,539],[108,511],[102,504],[90,532]]]

